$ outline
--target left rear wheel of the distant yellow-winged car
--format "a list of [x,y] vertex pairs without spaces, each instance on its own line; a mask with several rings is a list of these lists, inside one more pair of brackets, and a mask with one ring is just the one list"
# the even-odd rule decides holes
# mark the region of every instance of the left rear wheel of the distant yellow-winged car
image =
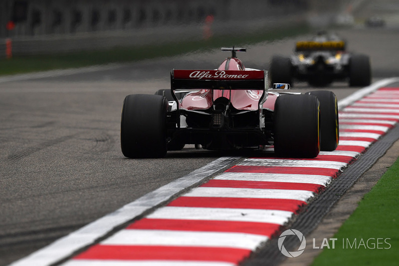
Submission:
[[279,55],[273,56],[269,71],[272,83],[288,83],[292,85],[291,58]]

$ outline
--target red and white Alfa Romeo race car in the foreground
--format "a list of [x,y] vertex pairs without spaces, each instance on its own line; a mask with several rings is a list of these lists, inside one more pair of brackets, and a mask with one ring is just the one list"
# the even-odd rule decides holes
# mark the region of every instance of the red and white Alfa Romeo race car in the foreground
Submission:
[[[331,91],[288,93],[268,89],[267,71],[245,68],[231,51],[217,69],[171,72],[171,89],[126,96],[121,119],[122,153],[164,157],[185,144],[208,150],[274,145],[280,157],[313,158],[339,141],[337,98]],[[276,92],[279,91],[279,92]]]

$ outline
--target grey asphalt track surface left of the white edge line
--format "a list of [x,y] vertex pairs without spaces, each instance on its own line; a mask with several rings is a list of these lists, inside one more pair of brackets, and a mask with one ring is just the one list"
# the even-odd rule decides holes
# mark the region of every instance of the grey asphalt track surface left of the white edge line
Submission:
[[[370,55],[374,80],[399,75],[395,29],[339,33],[348,39],[350,50]],[[295,40],[249,46],[238,56],[247,67],[267,68],[271,55],[289,54]],[[119,145],[127,94],[152,94],[169,86],[170,69],[214,68],[226,55],[211,51],[68,75],[0,78],[0,265],[221,156],[241,155],[187,147],[164,159],[132,160],[123,157]],[[296,87],[302,92],[315,89]],[[336,83],[323,89],[343,99],[359,88]]]

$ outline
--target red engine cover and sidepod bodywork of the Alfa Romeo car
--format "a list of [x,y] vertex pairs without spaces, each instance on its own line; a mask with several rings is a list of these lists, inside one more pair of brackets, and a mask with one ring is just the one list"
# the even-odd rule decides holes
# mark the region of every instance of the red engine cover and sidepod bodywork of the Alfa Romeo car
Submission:
[[[228,57],[225,59],[217,70],[235,70],[245,71],[244,64],[236,57]],[[251,69],[253,70],[253,69]],[[263,71],[262,71],[263,72]],[[244,72],[245,73],[245,72]],[[258,103],[262,96],[262,90],[210,90],[201,89],[196,92],[192,92],[186,95],[183,101],[180,103],[181,109],[186,110],[205,110],[212,107],[212,92],[213,101],[220,97],[230,99],[231,105],[237,110],[251,110],[255,111],[259,109]],[[276,101],[277,95],[269,93],[266,101],[263,104],[263,108],[274,110],[274,102]]]

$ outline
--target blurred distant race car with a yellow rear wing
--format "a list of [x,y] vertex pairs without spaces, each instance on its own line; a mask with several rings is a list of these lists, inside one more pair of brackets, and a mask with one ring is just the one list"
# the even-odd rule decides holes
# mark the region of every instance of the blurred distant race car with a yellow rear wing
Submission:
[[273,83],[292,84],[295,79],[310,86],[326,86],[333,81],[368,86],[371,82],[369,56],[347,52],[345,40],[325,32],[309,41],[298,41],[289,57],[274,55],[269,71]]

